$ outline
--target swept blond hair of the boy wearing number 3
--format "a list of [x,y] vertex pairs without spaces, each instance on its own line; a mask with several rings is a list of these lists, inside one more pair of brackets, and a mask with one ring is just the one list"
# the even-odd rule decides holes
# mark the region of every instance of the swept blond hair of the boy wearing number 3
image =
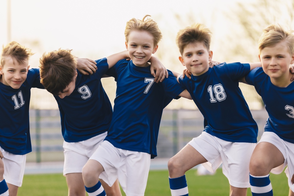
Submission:
[[291,30],[285,30],[279,24],[271,24],[263,29],[263,34],[258,41],[259,54],[265,47],[271,47],[275,44],[286,41],[291,55],[294,54],[294,34]]

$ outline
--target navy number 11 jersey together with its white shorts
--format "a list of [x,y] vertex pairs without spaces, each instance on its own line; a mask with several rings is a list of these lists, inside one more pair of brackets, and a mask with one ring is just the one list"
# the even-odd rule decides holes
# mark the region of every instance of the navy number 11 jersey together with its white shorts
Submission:
[[32,151],[29,105],[31,88],[42,88],[39,69],[29,69],[19,89],[0,83],[0,150],[4,156],[4,178],[20,187],[24,177],[26,154]]

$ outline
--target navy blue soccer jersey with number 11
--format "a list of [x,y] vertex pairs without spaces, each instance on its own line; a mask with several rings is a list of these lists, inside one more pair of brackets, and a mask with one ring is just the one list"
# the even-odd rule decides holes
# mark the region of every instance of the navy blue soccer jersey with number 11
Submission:
[[19,89],[0,83],[0,146],[5,151],[24,155],[32,151],[29,123],[31,88],[42,88],[39,69],[29,69]]

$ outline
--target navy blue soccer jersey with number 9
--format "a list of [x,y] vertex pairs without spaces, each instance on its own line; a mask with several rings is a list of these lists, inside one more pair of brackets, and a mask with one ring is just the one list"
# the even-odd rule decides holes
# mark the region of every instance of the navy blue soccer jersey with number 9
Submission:
[[61,99],[54,96],[61,117],[61,131],[66,142],[87,140],[105,133],[112,118],[112,106],[101,83],[108,70],[107,59],[96,61],[98,70],[92,75],[79,71],[75,89]]

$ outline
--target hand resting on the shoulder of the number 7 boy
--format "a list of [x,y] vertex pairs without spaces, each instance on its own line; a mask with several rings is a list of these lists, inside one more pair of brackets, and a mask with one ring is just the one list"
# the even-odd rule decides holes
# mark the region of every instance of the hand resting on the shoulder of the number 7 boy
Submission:
[[156,83],[162,82],[164,78],[168,78],[168,71],[158,58],[151,56],[150,65],[151,75],[154,76],[154,81]]

